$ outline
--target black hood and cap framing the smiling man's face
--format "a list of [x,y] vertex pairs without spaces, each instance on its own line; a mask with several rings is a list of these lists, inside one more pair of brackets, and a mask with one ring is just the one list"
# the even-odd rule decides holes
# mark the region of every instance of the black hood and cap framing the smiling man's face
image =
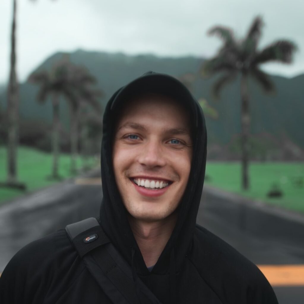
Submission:
[[[207,133],[205,118],[198,102],[188,89],[177,79],[154,72],[148,72],[120,88],[110,98],[103,116],[103,138],[101,148],[101,176],[103,199],[100,208],[101,225],[114,246],[132,264],[132,251],[138,275],[149,275],[143,257],[133,236],[126,216],[126,209],[115,182],[112,166],[112,138],[114,121],[122,103],[130,100],[132,94],[155,92],[178,99],[190,110],[193,122],[193,156],[190,176],[185,194],[178,207],[178,220],[172,235],[153,268],[154,274],[169,271],[169,260],[174,257],[174,268],[178,272],[192,243],[196,216],[205,177]],[[173,252],[173,255],[172,255]],[[170,261],[172,263],[172,261]]]

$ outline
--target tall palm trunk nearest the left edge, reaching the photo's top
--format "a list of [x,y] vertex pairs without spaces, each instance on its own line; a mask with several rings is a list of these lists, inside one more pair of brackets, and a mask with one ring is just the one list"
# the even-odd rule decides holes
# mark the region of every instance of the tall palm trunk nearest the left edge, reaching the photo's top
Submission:
[[11,36],[11,59],[8,87],[8,184],[17,183],[17,145],[18,145],[18,83],[16,75],[16,0],[13,2],[13,21]]

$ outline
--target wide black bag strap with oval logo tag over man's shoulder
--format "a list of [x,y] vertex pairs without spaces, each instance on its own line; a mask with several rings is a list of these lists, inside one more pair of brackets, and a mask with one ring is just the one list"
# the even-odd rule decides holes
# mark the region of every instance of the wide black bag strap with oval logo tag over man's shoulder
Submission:
[[86,267],[112,302],[138,304],[131,269],[126,271],[128,268],[122,269],[113,260],[107,247],[115,247],[98,221],[95,218],[84,219],[67,225],[66,231]]

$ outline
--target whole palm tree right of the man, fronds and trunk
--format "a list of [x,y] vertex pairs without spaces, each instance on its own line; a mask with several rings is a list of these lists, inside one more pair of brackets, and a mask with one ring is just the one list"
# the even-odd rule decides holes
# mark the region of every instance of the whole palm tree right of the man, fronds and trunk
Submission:
[[291,63],[296,50],[294,43],[288,40],[278,40],[263,50],[257,50],[261,38],[263,20],[256,17],[252,22],[245,39],[236,40],[233,31],[227,27],[215,26],[209,30],[209,35],[217,35],[223,40],[223,45],[216,56],[206,60],[201,67],[201,75],[209,77],[221,74],[212,87],[215,97],[219,96],[222,88],[241,75],[241,149],[242,149],[242,188],[249,188],[248,178],[248,136],[250,132],[248,78],[251,77],[265,92],[273,92],[274,84],[270,77],[261,71],[260,64],[278,61]]

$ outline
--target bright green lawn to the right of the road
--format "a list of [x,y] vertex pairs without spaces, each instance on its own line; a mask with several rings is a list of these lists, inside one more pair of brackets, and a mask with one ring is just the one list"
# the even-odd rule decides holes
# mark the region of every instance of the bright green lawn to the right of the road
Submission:
[[[222,188],[285,209],[304,213],[304,162],[252,162],[249,166],[250,190],[241,190],[241,165],[237,162],[207,162],[206,184]],[[276,185],[280,198],[268,198]]]

